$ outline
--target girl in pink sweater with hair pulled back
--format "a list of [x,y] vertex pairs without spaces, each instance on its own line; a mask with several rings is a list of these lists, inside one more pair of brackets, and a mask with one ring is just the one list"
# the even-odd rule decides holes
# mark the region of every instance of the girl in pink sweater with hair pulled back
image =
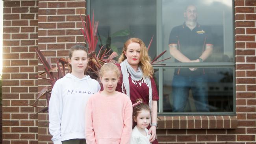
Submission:
[[106,63],[100,69],[104,90],[93,94],[87,102],[87,144],[130,144],[132,102],[125,94],[115,91],[119,75],[119,69],[113,63]]

